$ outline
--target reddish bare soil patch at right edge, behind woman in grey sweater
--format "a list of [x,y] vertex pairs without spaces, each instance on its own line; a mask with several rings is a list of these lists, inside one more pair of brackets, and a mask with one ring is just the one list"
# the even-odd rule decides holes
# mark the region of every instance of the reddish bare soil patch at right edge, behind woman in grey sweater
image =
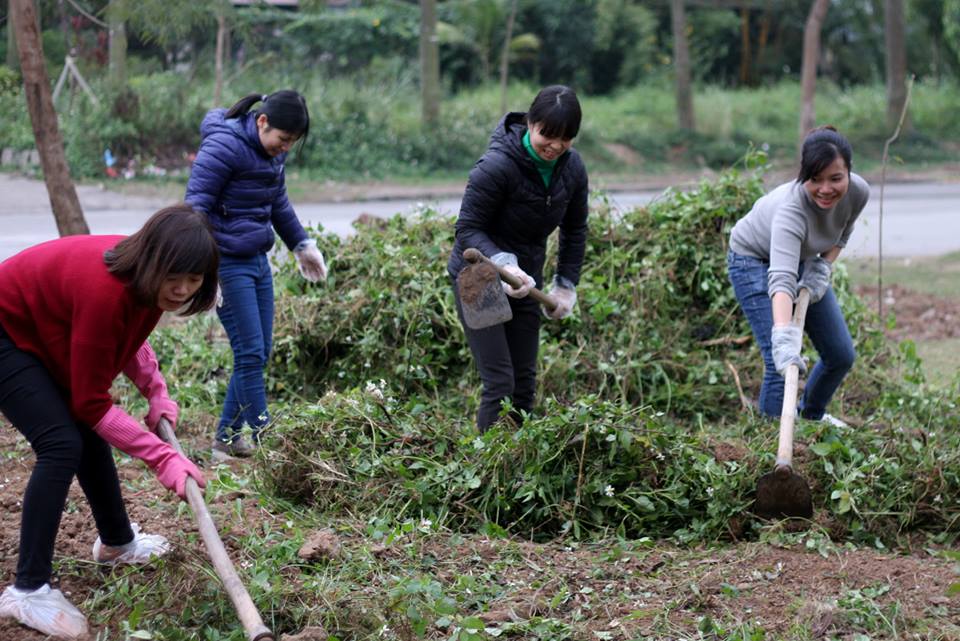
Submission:
[[[877,309],[877,290],[860,287],[857,295]],[[887,330],[896,340],[941,340],[960,337],[960,300],[916,292],[899,285],[883,290],[884,315],[893,312],[897,325]]]

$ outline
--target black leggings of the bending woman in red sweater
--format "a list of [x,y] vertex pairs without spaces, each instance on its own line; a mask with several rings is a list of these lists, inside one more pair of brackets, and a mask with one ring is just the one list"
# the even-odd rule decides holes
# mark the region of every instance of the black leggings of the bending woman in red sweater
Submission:
[[133,540],[110,445],[73,419],[47,368],[20,350],[2,327],[0,411],[30,441],[37,457],[23,495],[17,588],[33,590],[50,581],[53,546],[74,476],[101,541],[116,546]]

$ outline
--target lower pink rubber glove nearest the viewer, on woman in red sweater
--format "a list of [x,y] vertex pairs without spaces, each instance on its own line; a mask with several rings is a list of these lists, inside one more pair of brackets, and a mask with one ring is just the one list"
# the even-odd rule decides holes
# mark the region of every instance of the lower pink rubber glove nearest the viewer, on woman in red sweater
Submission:
[[156,434],[142,429],[136,419],[116,405],[104,414],[93,431],[121,452],[146,463],[160,483],[182,499],[187,498],[187,476],[193,477],[200,487],[207,484],[203,472],[190,459],[161,441]]

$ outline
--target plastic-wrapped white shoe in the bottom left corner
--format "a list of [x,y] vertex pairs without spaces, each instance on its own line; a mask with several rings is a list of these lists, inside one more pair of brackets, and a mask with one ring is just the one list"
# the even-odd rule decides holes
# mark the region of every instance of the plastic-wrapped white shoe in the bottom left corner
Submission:
[[13,617],[28,628],[59,639],[87,635],[87,619],[60,590],[44,583],[36,590],[18,590],[12,585],[0,594],[0,616]]

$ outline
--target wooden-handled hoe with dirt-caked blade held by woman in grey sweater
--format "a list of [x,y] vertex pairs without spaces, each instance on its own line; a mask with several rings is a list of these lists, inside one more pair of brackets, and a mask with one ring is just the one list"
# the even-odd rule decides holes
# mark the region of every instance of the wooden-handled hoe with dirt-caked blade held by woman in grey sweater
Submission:
[[[793,324],[802,328],[807,315],[810,292],[801,289],[793,312]],[[783,410],[780,412],[780,442],[777,446],[777,464],[757,481],[757,499],[754,512],[765,519],[813,516],[813,499],[806,479],[793,471],[793,425],[797,419],[797,391],[800,367],[787,367],[783,390]]]

